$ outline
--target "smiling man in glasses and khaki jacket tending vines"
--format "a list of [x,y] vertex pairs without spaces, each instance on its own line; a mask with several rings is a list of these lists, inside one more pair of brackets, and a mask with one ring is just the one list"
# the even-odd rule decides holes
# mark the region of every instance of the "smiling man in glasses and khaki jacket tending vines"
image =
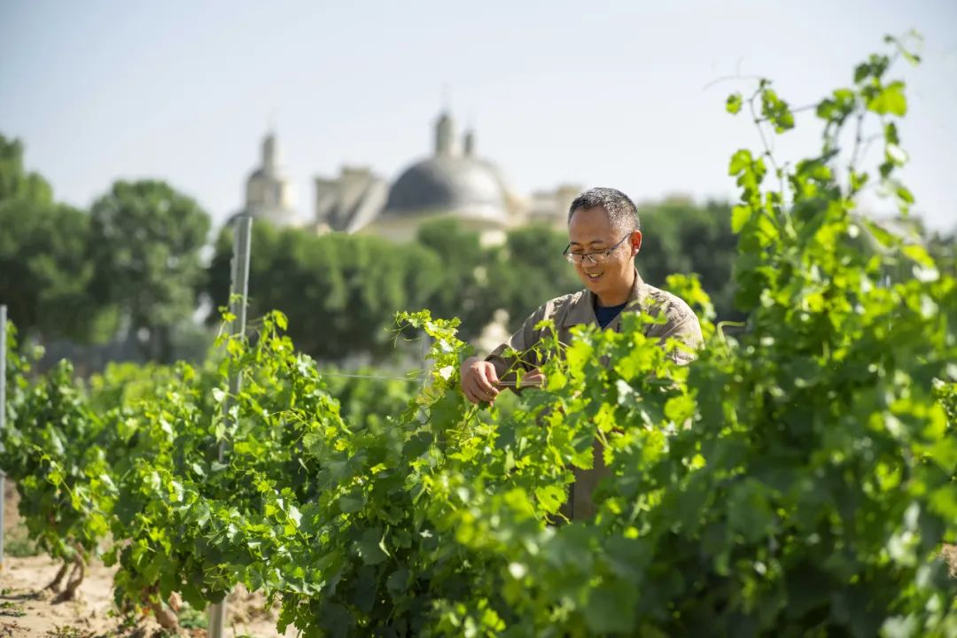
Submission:
[[[539,306],[525,319],[522,327],[485,359],[470,357],[461,365],[461,386],[472,403],[493,402],[501,380],[514,378],[514,370],[523,368],[522,385],[541,385],[545,376],[539,370],[543,363],[534,353],[523,359],[506,357],[508,348],[524,353],[545,337],[535,326],[543,319],[552,319],[559,341],[570,341],[572,326],[597,323],[607,330],[620,330],[621,314],[645,313],[664,317],[664,323],[645,327],[645,334],[657,337],[663,345],[669,338],[698,348],[701,346],[701,325],[688,304],[679,297],[641,280],[634,267],[634,256],[641,249],[641,230],[634,203],[614,188],[591,188],[575,198],[568,208],[568,248],[565,257],[586,289],[556,297]],[[691,352],[675,349],[671,356],[678,363],[693,359]],[[591,517],[594,507],[591,493],[609,471],[597,441],[593,470],[575,470],[575,483],[566,504],[566,516],[575,519]]]

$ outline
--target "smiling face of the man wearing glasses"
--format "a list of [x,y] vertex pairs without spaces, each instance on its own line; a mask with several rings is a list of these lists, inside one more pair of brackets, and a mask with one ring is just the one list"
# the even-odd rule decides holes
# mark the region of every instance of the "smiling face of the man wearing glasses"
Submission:
[[[595,295],[618,293],[631,285],[634,255],[641,247],[641,232],[615,231],[608,213],[601,207],[577,209],[568,223],[568,251],[571,253],[604,253],[622,239],[612,254],[600,264],[586,258],[574,264],[582,282]],[[603,255],[595,255],[601,258]]]

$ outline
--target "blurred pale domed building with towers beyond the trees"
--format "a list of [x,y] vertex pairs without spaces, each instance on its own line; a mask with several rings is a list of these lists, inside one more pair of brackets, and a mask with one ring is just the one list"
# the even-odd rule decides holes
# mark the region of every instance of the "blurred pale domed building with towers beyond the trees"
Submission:
[[389,183],[368,166],[343,166],[334,177],[317,176],[314,216],[303,223],[292,206],[291,188],[278,167],[273,134],[263,142],[262,165],[250,176],[246,209],[279,226],[307,226],[317,232],[364,232],[409,241],[432,219],[451,217],[498,243],[505,231],[528,223],[564,228],[568,205],[581,187],[564,185],[523,197],[509,187],[497,165],[479,157],[476,135],[460,139],[456,122],[442,113],[434,123],[433,151]]

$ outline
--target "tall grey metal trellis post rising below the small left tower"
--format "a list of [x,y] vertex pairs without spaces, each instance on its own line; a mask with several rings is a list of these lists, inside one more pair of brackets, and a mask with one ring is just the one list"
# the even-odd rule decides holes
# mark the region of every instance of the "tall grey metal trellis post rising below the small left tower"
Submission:
[[[253,239],[253,217],[243,213],[234,220],[233,235],[233,276],[230,286],[230,312],[235,315],[231,325],[233,335],[246,334],[246,305],[249,297],[249,258],[250,245]],[[223,405],[225,418],[229,418],[230,410],[235,404],[234,397],[242,387],[242,371],[234,370],[230,377],[230,394]],[[219,461],[226,455],[226,441],[219,442]],[[209,632],[210,638],[223,638],[226,630],[226,599],[222,603],[210,605]]]

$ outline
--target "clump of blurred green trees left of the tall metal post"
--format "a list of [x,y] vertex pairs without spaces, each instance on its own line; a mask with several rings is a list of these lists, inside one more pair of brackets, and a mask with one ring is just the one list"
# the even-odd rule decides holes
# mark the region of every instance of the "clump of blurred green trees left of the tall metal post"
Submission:
[[0,136],[0,302],[37,341],[108,341],[121,326],[168,361],[170,332],[205,281],[210,217],[158,181],[117,182],[80,210],[57,203]]

